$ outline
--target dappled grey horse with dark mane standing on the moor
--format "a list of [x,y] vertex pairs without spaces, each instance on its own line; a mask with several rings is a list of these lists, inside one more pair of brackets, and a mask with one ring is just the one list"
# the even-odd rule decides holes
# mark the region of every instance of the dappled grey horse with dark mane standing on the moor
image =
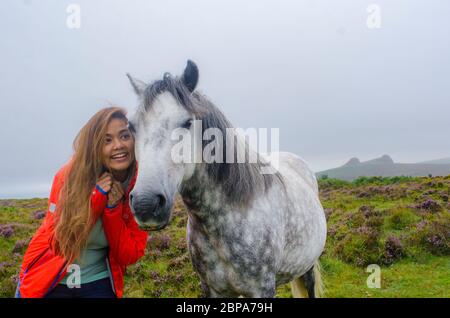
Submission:
[[[275,297],[276,287],[288,282],[294,297],[320,296],[326,220],[306,162],[278,153],[273,173],[261,172],[271,162],[259,153],[253,162],[205,162],[199,156],[208,140],[195,132],[197,123],[201,133],[214,128],[223,136],[232,125],[196,91],[196,64],[188,61],[180,77],[166,73],[151,84],[127,75],[139,97],[130,120],[139,162],[130,205],[138,224],[164,228],[179,193],[188,208],[188,248],[205,296]],[[174,149],[183,137],[191,142],[191,160],[178,162]],[[239,140],[235,149],[248,148]]]

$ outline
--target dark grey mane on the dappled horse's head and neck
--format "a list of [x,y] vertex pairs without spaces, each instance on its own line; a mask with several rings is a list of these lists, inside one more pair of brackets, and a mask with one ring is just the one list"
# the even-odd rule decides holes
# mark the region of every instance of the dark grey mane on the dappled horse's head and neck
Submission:
[[[158,80],[148,85],[143,92],[142,111],[147,111],[155,98],[163,92],[170,92],[173,97],[196,119],[202,120],[202,136],[208,128],[217,128],[224,136],[223,158],[226,158],[226,130],[233,128],[230,121],[205,95],[194,91],[193,93],[185,87],[179,78],[173,78],[166,73],[163,80]],[[203,148],[208,141],[203,140]],[[245,162],[237,163],[237,145],[235,140],[234,163],[214,162],[206,164],[208,177],[217,186],[222,187],[224,194],[230,203],[238,206],[247,206],[255,198],[256,194],[264,193],[270,189],[275,181],[283,184],[282,176],[279,172],[274,174],[262,174],[261,169],[268,165],[256,153],[255,163],[249,162],[249,145],[245,141]],[[242,145],[241,145],[242,146]]]

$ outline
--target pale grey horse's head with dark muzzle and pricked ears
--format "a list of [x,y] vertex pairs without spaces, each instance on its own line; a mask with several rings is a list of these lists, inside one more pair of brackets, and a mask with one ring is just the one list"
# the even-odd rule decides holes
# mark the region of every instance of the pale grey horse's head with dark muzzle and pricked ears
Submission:
[[197,142],[193,137],[196,119],[193,95],[199,72],[195,63],[188,61],[181,77],[165,73],[162,80],[149,85],[127,76],[140,101],[130,120],[139,162],[130,206],[141,227],[162,229],[169,223],[181,182],[192,176],[195,169],[195,158],[180,162],[174,160],[174,154],[180,138],[192,148]]

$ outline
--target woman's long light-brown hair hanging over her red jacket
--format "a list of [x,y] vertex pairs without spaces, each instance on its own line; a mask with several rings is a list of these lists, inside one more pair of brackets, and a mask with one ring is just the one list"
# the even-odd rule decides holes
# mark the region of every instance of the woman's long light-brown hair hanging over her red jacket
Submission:
[[52,242],[55,252],[68,262],[80,256],[95,223],[90,197],[96,180],[105,172],[102,151],[112,119],[128,123],[124,109],[104,108],[81,128],[73,142],[74,154],[61,188]]

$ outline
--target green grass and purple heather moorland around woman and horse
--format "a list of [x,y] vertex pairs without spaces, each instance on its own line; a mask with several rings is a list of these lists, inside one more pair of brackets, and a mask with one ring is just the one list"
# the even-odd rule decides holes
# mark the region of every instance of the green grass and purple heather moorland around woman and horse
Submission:
[[[450,176],[319,180],[328,237],[321,257],[325,297],[450,297]],[[46,199],[0,200],[0,297],[12,297],[28,242]],[[199,297],[200,282],[186,245],[180,201],[170,226],[150,233],[146,255],[129,266],[124,297]],[[369,264],[380,266],[380,288],[369,288]],[[289,285],[277,297],[291,297]]]

